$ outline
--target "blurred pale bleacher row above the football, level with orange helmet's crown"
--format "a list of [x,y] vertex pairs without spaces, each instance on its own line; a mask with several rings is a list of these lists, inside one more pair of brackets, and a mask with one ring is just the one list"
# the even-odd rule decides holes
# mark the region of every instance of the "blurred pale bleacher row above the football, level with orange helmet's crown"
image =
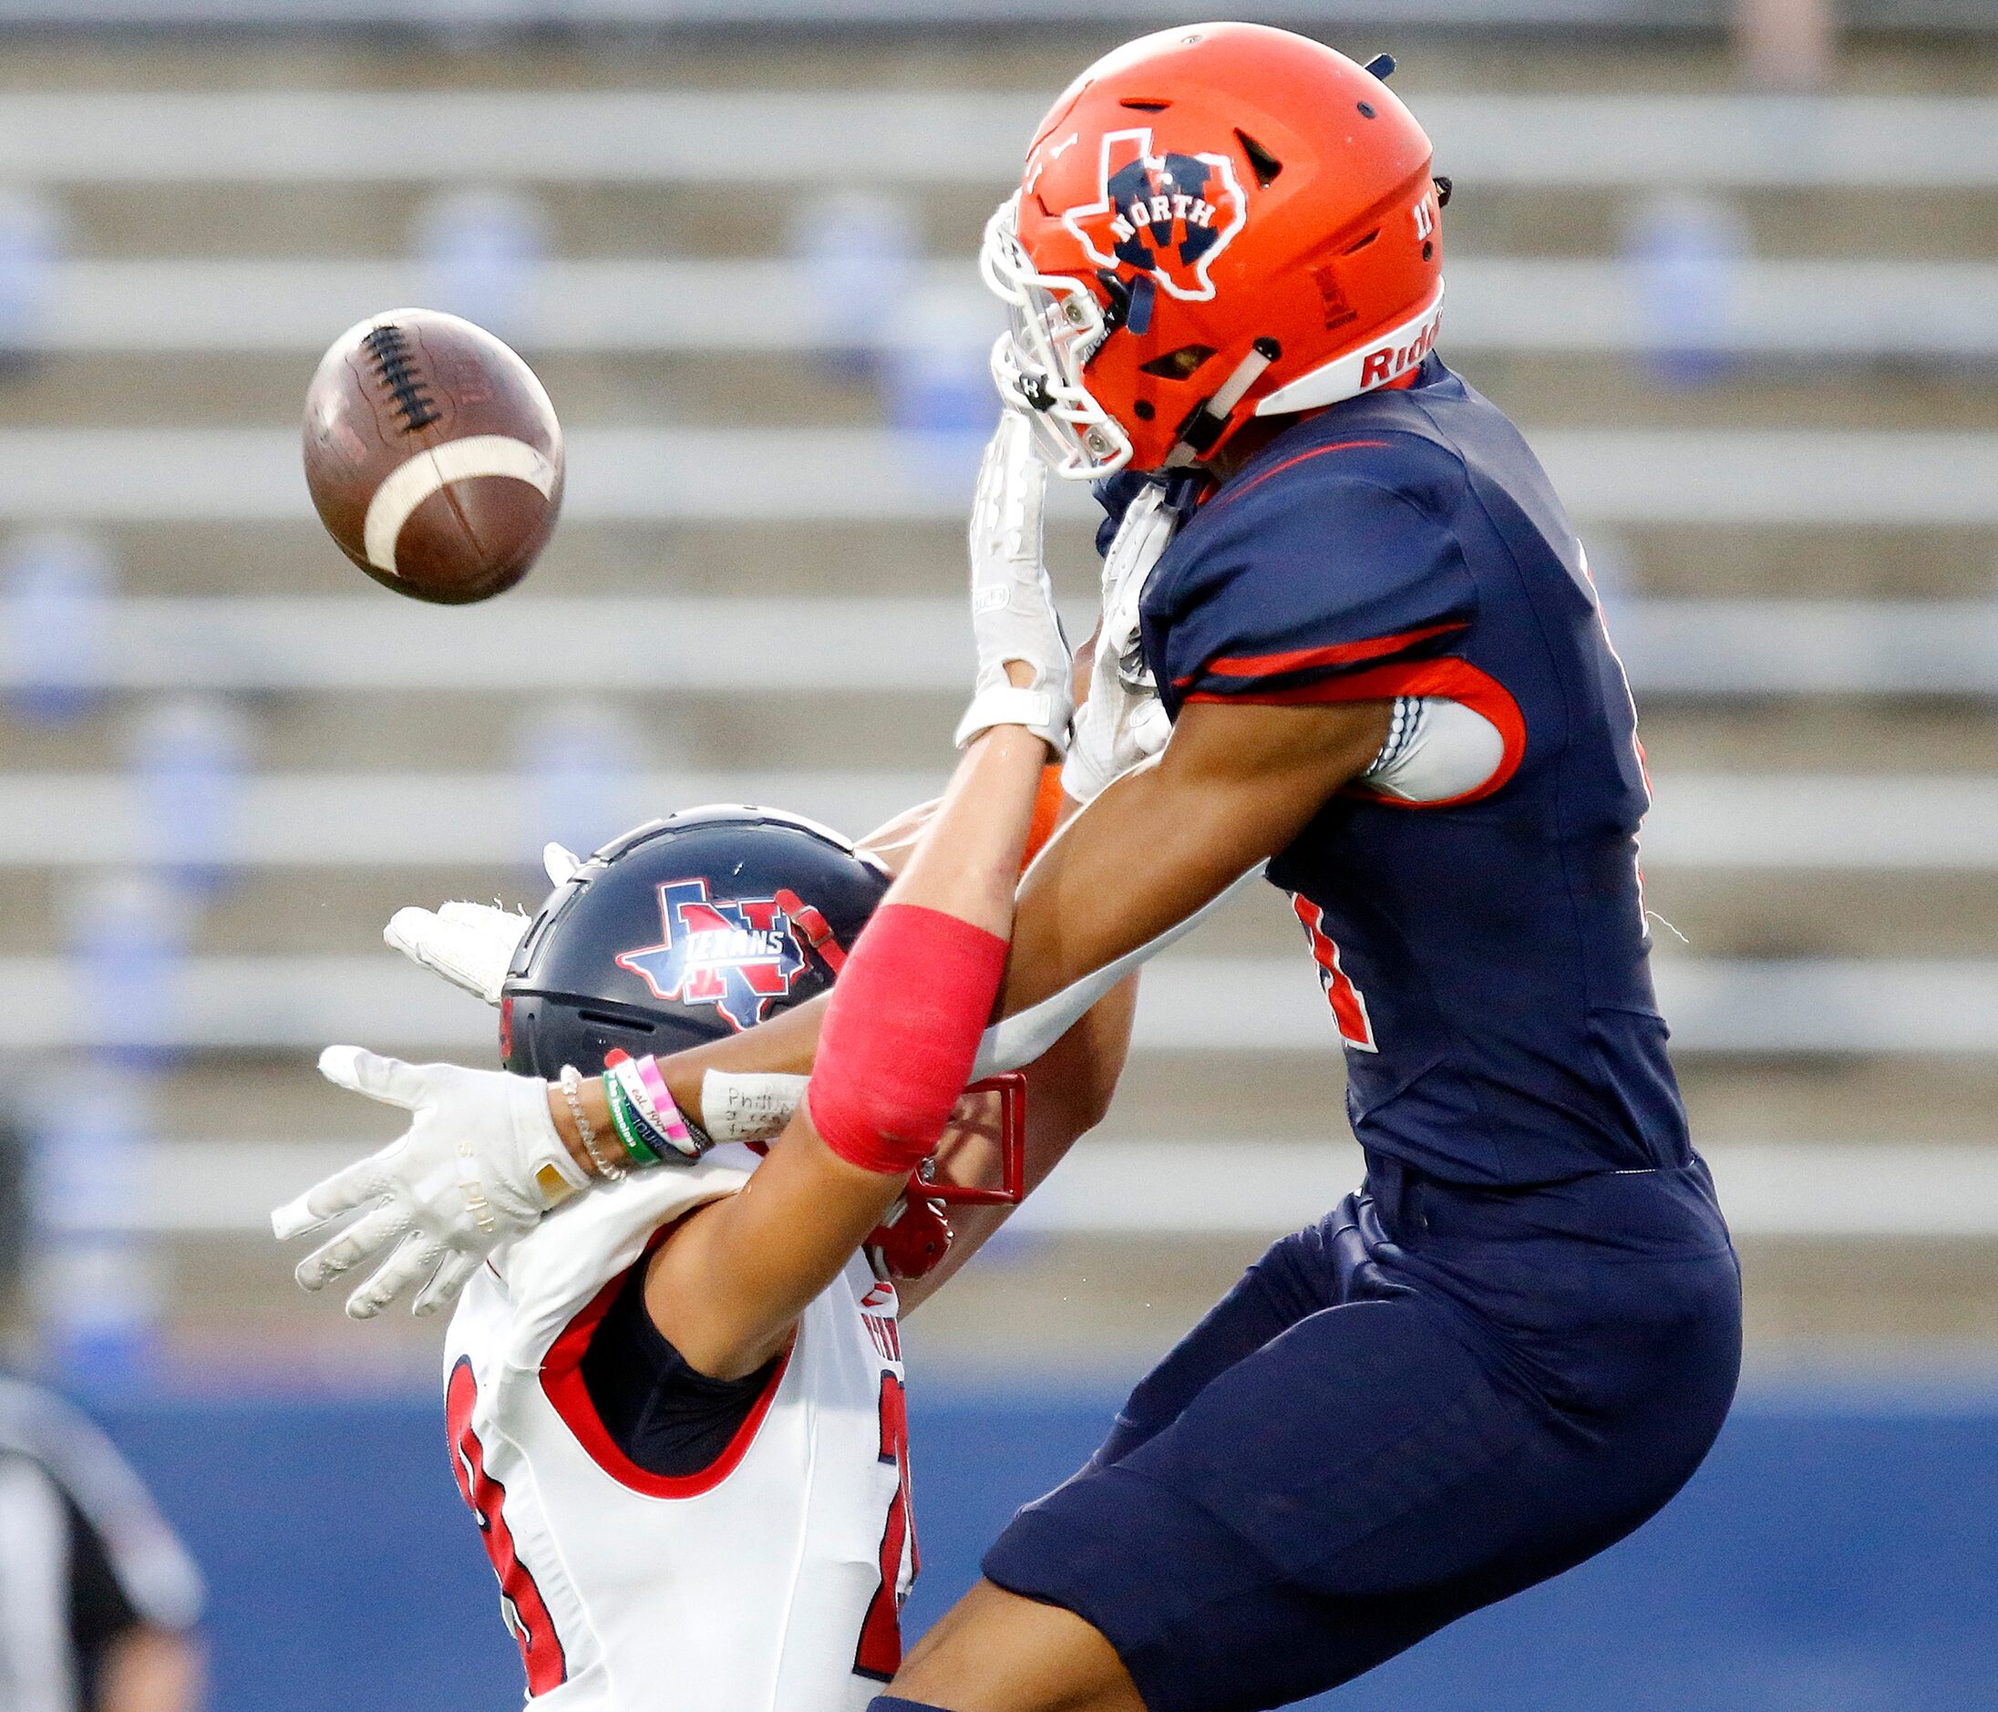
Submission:
[[[0,112],[0,158],[26,184],[997,190],[1043,104],[991,90],[22,90]],[[1435,92],[1421,106],[1439,170],[1491,190],[1998,186],[1988,96]]]

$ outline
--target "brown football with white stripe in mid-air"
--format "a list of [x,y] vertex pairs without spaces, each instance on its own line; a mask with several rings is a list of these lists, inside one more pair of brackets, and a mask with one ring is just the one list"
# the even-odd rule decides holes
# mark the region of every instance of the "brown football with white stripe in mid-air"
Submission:
[[348,328],[306,394],[306,485],[356,565],[420,601],[513,587],[561,509],[561,424],[484,328],[390,310]]

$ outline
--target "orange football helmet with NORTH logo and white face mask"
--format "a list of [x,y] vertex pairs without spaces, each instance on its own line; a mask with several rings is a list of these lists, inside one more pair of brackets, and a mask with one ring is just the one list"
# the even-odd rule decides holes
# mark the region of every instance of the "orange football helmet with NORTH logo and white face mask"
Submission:
[[1055,102],[981,268],[1011,320],[993,378],[1057,473],[1197,463],[1251,416],[1427,356],[1449,180],[1391,70],[1193,24],[1127,42]]

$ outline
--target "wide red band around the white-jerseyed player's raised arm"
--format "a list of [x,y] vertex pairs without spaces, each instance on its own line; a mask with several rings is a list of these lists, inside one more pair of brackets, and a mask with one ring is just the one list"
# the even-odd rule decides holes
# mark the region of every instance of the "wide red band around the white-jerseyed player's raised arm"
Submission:
[[1007,941],[913,903],[885,903],[833,987],[805,1101],[819,1139],[861,1171],[907,1175],[971,1081]]

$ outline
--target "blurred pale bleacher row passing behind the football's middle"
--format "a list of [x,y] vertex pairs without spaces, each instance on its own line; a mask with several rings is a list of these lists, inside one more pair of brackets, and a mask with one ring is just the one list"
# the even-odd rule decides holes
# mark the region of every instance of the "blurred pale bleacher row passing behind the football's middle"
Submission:
[[[571,523],[953,521],[977,461],[877,428],[581,428],[567,445]],[[1998,433],[1592,428],[1534,449],[1582,525],[1998,523]],[[0,429],[0,521],[270,523],[304,503],[292,429]]]

